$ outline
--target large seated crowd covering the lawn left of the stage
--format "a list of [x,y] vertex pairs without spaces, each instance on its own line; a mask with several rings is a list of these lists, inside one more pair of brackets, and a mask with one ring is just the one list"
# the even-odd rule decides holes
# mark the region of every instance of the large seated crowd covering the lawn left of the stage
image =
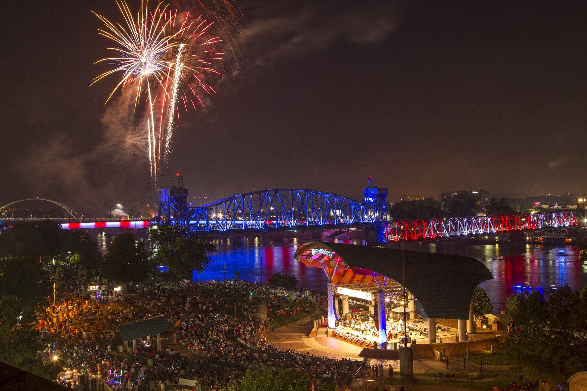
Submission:
[[[180,378],[203,380],[224,389],[248,368],[290,368],[316,382],[348,383],[355,362],[333,361],[282,351],[265,343],[268,327],[257,317],[260,298],[269,315],[313,312],[323,300],[308,291],[245,281],[130,285],[120,300],[92,299],[80,287],[39,317],[48,341],[39,352],[63,367],[58,382],[73,387],[79,375],[107,382],[116,390],[171,390]],[[164,315],[180,344],[157,352],[146,341],[125,351],[117,324]],[[185,349],[188,350],[185,350]]]

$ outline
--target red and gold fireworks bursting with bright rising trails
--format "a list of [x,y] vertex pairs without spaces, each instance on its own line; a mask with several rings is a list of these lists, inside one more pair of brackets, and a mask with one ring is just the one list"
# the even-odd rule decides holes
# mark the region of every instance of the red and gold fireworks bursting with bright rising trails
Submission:
[[[203,94],[214,93],[222,75],[220,36],[210,32],[214,22],[203,15],[168,9],[163,3],[150,10],[147,1],[133,16],[124,0],[116,0],[124,23],[113,23],[96,13],[104,23],[100,35],[113,40],[115,55],[107,62],[113,68],[93,83],[110,75],[120,80],[106,100],[126,88],[134,90],[134,108],[139,123],[146,123],[146,149],[151,177],[157,181],[161,164],[167,161],[179,107],[186,111],[204,105]],[[93,84],[92,83],[92,84]],[[141,108],[145,107],[143,113]],[[134,137],[133,140],[138,138]]]

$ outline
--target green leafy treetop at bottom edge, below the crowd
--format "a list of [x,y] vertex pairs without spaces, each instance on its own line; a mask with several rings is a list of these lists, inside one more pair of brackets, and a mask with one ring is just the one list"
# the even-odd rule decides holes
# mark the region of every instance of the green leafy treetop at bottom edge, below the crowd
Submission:
[[[238,380],[234,391],[308,391],[312,379],[306,373],[295,370],[247,370]],[[333,391],[335,385],[315,385],[316,391]]]

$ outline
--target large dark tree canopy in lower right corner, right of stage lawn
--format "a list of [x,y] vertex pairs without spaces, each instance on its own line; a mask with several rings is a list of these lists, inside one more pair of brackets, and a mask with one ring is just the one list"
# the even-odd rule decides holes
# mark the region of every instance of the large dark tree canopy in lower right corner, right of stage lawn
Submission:
[[568,390],[566,379],[587,368],[587,297],[569,285],[508,298],[514,330],[506,344],[515,369]]

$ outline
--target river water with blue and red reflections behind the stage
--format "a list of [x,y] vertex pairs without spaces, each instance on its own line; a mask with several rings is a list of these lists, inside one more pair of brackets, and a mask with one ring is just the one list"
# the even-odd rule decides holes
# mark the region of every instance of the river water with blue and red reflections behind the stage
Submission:
[[[345,240],[343,243],[362,244],[360,241]],[[294,260],[296,240],[286,243],[260,243],[251,240],[239,245],[218,244],[218,251],[212,254],[212,263],[204,273],[195,274],[194,281],[239,277],[249,281],[263,280],[275,273],[294,274],[298,286],[325,290],[326,276],[323,270],[305,267]],[[406,250],[436,251],[431,242],[407,243]],[[509,244],[464,244],[458,243],[455,253],[474,257],[485,264],[493,274],[493,280],[481,284],[491,298],[495,311],[505,309],[508,295],[521,287],[542,287],[548,296],[558,285],[569,284],[575,290],[587,285],[587,267],[578,261],[579,251],[572,246],[542,246],[528,244],[525,250],[511,250]],[[441,281],[439,281],[441,283]]]

